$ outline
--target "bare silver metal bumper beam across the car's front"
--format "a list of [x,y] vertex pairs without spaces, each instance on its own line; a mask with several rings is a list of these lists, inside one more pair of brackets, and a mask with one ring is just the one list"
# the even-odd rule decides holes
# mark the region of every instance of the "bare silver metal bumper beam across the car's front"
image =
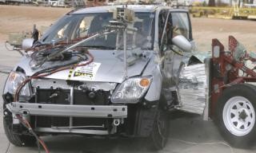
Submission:
[[14,114],[32,116],[70,116],[92,118],[127,118],[125,105],[68,105],[12,102],[6,108]]

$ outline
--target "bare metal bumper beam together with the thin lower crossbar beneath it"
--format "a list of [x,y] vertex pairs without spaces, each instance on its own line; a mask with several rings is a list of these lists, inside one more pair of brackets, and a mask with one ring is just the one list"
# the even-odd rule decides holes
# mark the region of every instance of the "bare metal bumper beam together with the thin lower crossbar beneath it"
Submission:
[[[13,115],[13,124],[20,124],[16,115],[20,115],[26,120],[30,120],[30,116],[58,116],[68,117],[69,125],[66,127],[34,127],[34,131],[47,133],[77,133],[88,135],[110,135],[117,132],[119,124],[123,124],[123,120],[127,118],[126,105],[68,105],[68,104],[31,104],[12,102],[6,104],[6,108]],[[74,118],[105,118],[112,119],[111,129],[102,126],[75,126]]]

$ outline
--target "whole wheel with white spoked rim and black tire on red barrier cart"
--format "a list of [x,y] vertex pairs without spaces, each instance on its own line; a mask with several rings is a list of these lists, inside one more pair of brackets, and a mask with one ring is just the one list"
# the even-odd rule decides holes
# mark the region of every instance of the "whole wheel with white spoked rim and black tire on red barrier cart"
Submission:
[[256,87],[235,84],[218,100],[215,122],[223,138],[233,147],[249,147],[256,137]]

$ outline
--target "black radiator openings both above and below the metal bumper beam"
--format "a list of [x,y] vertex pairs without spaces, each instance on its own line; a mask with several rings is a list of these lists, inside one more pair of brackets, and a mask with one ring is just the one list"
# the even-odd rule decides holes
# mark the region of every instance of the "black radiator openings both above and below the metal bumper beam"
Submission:
[[[90,95],[90,94],[93,94]],[[98,90],[81,91],[74,90],[74,104],[77,105],[107,105],[110,103],[110,92]],[[40,89],[37,88],[36,103],[39,104],[70,104],[70,90],[69,89]],[[52,128],[52,127],[70,127],[70,117],[59,116],[35,116],[37,128]],[[73,117],[72,126],[102,126],[112,123],[113,119],[102,118],[82,118]]]

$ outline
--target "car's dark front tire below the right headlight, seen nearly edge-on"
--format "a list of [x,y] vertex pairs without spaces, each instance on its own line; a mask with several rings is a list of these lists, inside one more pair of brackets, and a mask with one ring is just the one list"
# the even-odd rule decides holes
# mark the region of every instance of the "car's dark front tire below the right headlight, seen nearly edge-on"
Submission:
[[154,125],[150,134],[150,147],[158,151],[166,146],[169,136],[169,120],[166,111],[158,110],[154,118]]

